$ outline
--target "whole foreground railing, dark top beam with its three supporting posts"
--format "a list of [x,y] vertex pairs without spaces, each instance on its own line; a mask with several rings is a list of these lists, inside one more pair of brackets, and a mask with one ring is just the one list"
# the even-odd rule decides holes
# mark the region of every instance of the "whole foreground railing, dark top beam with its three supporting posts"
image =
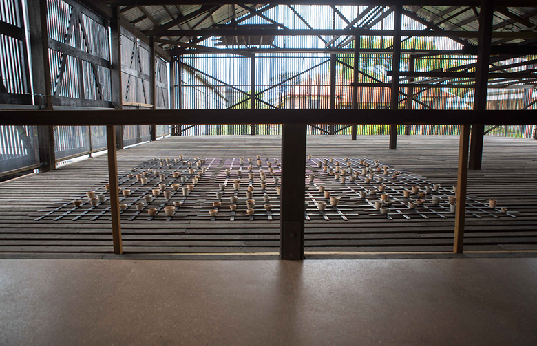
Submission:
[[[148,113],[150,112],[150,113]],[[462,252],[470,125],[536,125],[537,111],[233,109],[1,111],[0,125],[106,125],[114,253],[122,253],[114,125],[282,124],[280,258],[304,259],[306,127],[322,124],[460,125],[454,252]],[[304,159],[304,161],[301,160]],[[113,203],[112,201],[115,201]]]

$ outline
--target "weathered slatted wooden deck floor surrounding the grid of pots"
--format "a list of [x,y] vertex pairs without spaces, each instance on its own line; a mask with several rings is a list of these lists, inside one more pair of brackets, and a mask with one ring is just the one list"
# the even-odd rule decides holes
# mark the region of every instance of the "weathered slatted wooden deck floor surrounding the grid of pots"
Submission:
[[[394,169],[430,182],[456,182],[458,137],[399,136],[390,151],[387,136],[308,137],[314,157],[379,159]],[[485,138],[483,169],[470,171],[468,193],[496,198],[516,218],[467,219],[466,251],[537,250],[537,141]],[[277,136],[199,136],[158,140],[118,152],[119,171],[152,157],[189,155],[238,158],[280,157]],[[56,171],[0,184],[0,252],[112,252],[109,221],[34,221],[29,214],[107,180],[106,156],[76,162]],[[125,252],[249,253],[278,250],[279,221],[123,221]],[[450,252],[454,219],[306,221],[306,252]]]

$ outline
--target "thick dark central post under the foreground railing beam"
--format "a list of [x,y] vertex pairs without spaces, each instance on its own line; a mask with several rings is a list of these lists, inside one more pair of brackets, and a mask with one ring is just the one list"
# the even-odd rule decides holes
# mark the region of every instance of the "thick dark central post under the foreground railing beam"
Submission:
[[306,126],[282,125],[280,259],[304,259]]

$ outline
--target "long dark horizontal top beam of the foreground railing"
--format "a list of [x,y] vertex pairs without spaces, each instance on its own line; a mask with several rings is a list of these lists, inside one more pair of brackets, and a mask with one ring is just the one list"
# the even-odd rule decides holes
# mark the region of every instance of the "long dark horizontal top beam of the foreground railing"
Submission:
[[0,111],[0,125],[166,124],[537,125],[537,110],[156,109]]

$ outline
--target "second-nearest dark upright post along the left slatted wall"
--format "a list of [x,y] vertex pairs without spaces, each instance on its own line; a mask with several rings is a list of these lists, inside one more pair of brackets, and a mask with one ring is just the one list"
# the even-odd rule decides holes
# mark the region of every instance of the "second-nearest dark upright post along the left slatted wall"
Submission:
[[[110,88],[112,91],[112,103],[116,109],[123,109],[123,85],[121,82],[121,34],[119,8],[112,8],[112,20],[110,21]],[[123,126],[116,126],[116,149],[123,149]]]

